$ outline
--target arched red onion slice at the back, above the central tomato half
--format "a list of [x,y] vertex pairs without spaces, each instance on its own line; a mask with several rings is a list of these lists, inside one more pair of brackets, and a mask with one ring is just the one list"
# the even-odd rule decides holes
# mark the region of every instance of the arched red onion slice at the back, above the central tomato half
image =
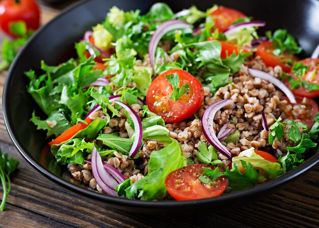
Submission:
[[187,29],[188,27],[193,27],[193,26],[191,24],[188,24],[185,21],[169,20],[161,24],[156,29],[148,47],[149,61],[153,68],[153,72],[154,72],[154,63],[155,63],[155,51],[156,51],[157,44],[161,40],[161,38],[172,30]]

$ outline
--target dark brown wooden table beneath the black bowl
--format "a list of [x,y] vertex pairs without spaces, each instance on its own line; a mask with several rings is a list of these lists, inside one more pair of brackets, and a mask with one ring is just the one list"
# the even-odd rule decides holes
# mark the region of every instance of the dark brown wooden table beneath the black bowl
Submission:
[[[43,23],[58,12],[42,6]],[[6,75],[0,72],[1,95]],[[133,214],[96,204],[39,174],[14,148],[0,108],[0,147],[20,161],[0,227],[319,227],[319,166],[277,194],[225,213]]]

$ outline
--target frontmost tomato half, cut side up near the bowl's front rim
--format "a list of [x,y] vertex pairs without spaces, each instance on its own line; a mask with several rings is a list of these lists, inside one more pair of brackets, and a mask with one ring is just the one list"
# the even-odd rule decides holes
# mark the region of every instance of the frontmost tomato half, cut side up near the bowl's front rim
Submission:
[[203,167],[215,169],[214,166],[206,164],[193,164],[171,172],[165,180],[168,193],[177,201],[199,200],[221,195],[227,187],[226,178],[219,177],[214,184],[204,184],[198,180],[203,174]]

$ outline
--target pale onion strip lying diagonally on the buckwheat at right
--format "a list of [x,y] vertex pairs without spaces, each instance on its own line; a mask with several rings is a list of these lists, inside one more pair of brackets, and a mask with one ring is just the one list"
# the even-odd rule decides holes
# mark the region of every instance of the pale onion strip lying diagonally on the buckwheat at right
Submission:
[[286,85],[278,80],[277,78],[275,78],[273,75],[266,73],[264,71],[261,70],[256,70],[256,69],[251,69],[248,68],[248,72],[250,73],[250,75],[254,76],[254,77],[259,77],[261,79],[267,80],[271,83],[273,83],[276,87],[278,87],[289,99],[291,104],[296,104],[296,99],[294,94],[291,92],[291,90],[286,87]]

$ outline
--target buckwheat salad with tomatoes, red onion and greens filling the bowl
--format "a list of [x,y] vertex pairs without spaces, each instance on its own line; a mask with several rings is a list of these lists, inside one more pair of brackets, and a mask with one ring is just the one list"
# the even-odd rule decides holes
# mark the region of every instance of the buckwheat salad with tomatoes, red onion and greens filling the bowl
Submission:
[[197,200],[284,175],[317,150],[319,48],[223,6],[113,7],[77,59],[26,72],[50,152],[129,200]]

